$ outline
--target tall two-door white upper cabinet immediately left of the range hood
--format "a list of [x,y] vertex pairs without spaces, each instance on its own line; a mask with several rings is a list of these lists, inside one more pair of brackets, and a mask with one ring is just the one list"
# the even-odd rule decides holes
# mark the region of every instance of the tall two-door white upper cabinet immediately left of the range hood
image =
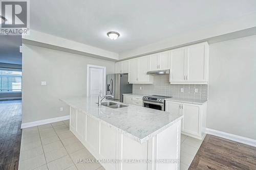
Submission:
[[149,58],[139,57],[129,61],[128,81],[132,84],[152,84],[153,77],[147,75]]

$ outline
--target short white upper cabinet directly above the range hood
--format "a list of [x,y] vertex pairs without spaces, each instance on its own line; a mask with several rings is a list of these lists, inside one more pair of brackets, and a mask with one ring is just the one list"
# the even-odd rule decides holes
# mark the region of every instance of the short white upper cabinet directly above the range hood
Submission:
[[152,54],[150,56],[150,70],[169,69],[169,52]]

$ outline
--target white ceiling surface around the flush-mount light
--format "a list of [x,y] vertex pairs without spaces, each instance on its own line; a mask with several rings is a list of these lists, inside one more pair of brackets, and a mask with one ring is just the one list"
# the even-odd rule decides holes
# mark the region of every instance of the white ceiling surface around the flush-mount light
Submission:
[[[33,0],[31,29],[121,53],[256,11],[255,0]],[[113,41],[106,37],[117,31]]]

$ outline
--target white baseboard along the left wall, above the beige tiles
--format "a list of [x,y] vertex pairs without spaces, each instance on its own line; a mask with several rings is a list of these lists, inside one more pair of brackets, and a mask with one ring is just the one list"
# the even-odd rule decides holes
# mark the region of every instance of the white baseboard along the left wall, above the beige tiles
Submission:
[[54,117],[54,118],[49,118],[49,119],[44,119],[44,120],[37,120],[35,122],[24,123],[24,124],[22,124],[22,126],[20,128],[21,129],[30,128],[33,126],[45,125],[45,124],[50,124],[50,123],[59,122],[62,120],[68,120],[68,119],[70,119],[70,115]]

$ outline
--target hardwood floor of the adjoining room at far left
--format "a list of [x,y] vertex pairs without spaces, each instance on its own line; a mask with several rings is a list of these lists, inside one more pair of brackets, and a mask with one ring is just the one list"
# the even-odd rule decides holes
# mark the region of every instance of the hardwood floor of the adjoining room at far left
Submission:
[[22,101],[0,101],[0,169],[17,170],[22,138]]

